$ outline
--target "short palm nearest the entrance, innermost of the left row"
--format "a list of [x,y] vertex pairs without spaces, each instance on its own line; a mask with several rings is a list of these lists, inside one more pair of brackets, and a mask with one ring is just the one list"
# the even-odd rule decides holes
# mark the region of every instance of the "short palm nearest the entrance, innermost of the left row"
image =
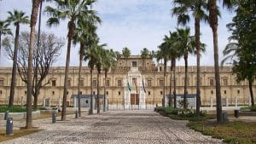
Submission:
[[103,112],[106,111],[106,84],[107,84],[107,78],[108,78],[108,71],[109,68],[116,65],[116,53],[113,51],[113,49],[105,49],[103,51],[102,59],[102,68],[105,72],[105,81],[104,81],[104,101],[103,101]]

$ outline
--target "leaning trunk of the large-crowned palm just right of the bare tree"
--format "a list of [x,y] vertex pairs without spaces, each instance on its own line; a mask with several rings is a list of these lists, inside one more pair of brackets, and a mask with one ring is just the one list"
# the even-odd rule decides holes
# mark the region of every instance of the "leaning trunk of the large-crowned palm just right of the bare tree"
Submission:
[[66,57],[66,68],[65,68],[65,78],[64,78],[64,90],[63,90],[61,121],[66,120],[68,68],[69,68],[69,62],[70,62],[70,48],[71,48],[71,41],[72,41],[72,38],[73,38],[74,27],[75,27],[75,25],[74,25],[73,21],[69,21],[68,22],[67,57]]

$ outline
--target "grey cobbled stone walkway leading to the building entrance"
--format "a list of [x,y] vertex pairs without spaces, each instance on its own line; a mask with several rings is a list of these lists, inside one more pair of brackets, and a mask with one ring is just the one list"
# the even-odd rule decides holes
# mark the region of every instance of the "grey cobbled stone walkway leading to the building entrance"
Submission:
[[[78,119],[67,116],[67,121],[56,124],[51,119],[35,120],[33,126],[43,131],[3,143],[223,143],[190,130],[187,123],[152,111],[108,111]],[[15,127],[24,125],[15,122]]]

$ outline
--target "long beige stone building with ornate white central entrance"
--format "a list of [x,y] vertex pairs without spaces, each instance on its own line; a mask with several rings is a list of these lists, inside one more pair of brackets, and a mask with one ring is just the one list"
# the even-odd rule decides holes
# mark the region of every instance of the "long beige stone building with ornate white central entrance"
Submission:
[[[63,95],[65,67],[52,67],[49,75],[44,80],[44,88],[41,89],[38,104],[42,105],[43,100],[51,100],[55,105],[61,101]],[[119,59],[117,66],[108,72],[106,83],[108,103],[112,107],[147,108],[148,106],[161,105],[163,98],[163,77],[164,66],[155,65],[153,60],[143,60],[138,55],[131,55],[125,60]],[[170,88],[170,66],[166,74],[166,95],[169,95]],[[220,69],[221,95],[225,103],[235,105],[248,104],[250,94],[247,81],[237,83],[236,75],[231,73],[230,66]],[[79,67],[70,67],[68,76],[67,102],[73,105],[73,96],[78,94]],[[173,79],[173,77],[172,77]],[[177,94],[183,94],[184,66],[176,68]],[[2,104],[9,101],[9,89],[11,82],[11,68],[0,68],[0,101]],[[104,74],[100,78],[100,89],[103,94]],[[81,79],[82,89],[80,94],[90,95],[90,69],[84,66]],[[93,93],[96,94],[96,70],[93,72]],[[172,84],[173,85],[173,84]],[[253,92],[256,93],[256,84],[253,84]],[[196,93],[196,66],[189,66],[188,93]],[[173,87],[172,87],[173,89]],[[15,88],[15,103],[20,104],[26,99],[26,84],[18,76]],[[254,98],[255,99],[255,98]],[[202,105],[215,103],[215,80],[214,67],[201,66],[201,102]],[[61,102],[60,102],[61,103]]]

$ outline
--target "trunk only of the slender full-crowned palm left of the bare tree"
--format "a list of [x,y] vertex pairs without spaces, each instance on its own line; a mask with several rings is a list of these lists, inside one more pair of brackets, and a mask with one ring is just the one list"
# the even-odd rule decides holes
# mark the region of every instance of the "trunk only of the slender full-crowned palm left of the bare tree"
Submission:
[[14,99],[15,99],[19,34],[20,34],[20,24],[17,24],[16,32],[15,32],[15,50],[14,50],[14,59],[13,59],[14,62],[13,62],[13,70],[12,70],[12,81],[11,81],[11,88],[10,88],[10,93],[9,93],[9,107],[14,105]]

